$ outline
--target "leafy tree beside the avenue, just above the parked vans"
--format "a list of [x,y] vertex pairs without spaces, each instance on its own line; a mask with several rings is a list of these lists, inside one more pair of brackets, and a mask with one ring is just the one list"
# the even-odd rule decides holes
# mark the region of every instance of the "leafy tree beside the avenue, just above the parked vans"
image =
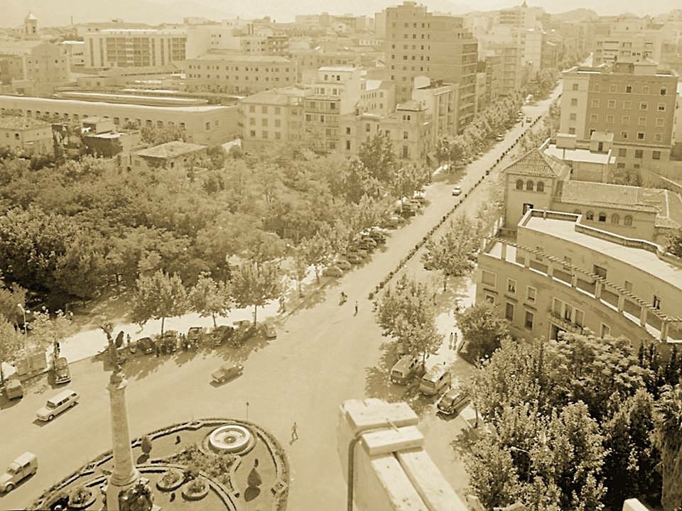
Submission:
[[443,342],[443,336],[435,327],[430,290],[406,275],[381,297],[377,319],[385,335],[404,343],[409,353],[421,356],[422,363],[426,363],[426,356],[435,353]]

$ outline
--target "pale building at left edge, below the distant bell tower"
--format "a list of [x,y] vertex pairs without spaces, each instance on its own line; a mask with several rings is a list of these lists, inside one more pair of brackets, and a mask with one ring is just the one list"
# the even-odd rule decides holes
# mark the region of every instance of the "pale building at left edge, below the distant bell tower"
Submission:
[[65,48],[45,40],[0,42],[0,82],[21,94],[45,94],[69,81]]

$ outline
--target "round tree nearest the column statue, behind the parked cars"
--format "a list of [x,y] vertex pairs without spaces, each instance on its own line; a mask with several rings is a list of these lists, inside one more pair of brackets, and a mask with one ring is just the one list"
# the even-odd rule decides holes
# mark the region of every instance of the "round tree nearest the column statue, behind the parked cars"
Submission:
[[132,300],[131,319],[143,326],[150,319],[161,319],[161,336],[166,318],[187,311],[187,290],[177,274],[161,270],[152,275],[140,275]]

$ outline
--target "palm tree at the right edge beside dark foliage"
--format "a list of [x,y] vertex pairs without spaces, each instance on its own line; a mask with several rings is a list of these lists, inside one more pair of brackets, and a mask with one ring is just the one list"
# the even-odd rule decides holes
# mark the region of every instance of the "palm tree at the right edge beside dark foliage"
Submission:
[[656,402],[656,441],[663,466],[664,511],[682,510],[682,386],[666,385]]

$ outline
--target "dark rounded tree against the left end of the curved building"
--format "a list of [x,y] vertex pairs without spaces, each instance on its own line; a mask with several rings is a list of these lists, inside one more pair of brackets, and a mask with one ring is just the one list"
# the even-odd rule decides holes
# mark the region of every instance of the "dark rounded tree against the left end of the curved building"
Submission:
[[509,324],[488,302],[458,312],[457,322],[462,330],[465,349],[475,361],[489,358],[502,345],[503,339],[510,338]]

